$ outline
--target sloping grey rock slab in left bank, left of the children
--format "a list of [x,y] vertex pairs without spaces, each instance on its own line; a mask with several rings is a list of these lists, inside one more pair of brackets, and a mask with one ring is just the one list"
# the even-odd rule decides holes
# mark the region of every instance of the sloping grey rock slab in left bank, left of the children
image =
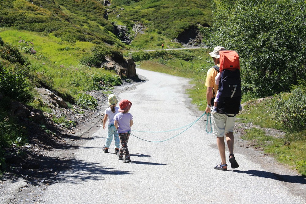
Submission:
[[52,91],[45,88],[36,88],[36,90],[41,96],[41,98],[37,98],[36,100],[41,100],[44,106],[47,105],[51,109],[68,108],[68,104]]

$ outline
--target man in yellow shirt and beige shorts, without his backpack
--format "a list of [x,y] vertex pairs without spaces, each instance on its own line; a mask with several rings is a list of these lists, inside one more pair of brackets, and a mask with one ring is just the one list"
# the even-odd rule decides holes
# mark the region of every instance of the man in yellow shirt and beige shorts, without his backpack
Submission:
[[[226,50],[224,47],[217,46],[214,51],[209,53],[214,60],[215,65],[220,66],[220,54],[221,50]],[[205,112],[208,114],[211,112],[211,106],[214,103],[214,98],[218,90],[218,85],[216,85],[215,78],[218,74],[218,71],[211,67],[207,71],[207,77],[205,86],[207,87],[206,98],[207,98],[207,107]],[[221,164],[218,164],[214,169],[218,170],[227,170],[226,156],[225,156],[225,143],[224,135],[226,135],[227,146],[230,151],[230,163],[233,169],[238,168],[239,165],[234,157],[234,134],[233,128],[235,124],[236,116],[229,117],[225,114],[215,113],[211,115],[212,118],[212,129],[213,135],[217,137],[217,146],[219,149]]]

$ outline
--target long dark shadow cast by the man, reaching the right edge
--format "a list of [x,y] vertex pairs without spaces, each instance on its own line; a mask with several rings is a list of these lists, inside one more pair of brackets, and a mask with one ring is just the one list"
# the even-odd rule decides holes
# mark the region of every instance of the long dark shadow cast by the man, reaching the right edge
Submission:
[[288,183],[306,184],[306,178],[302,176],[289,176],[289,175],[282,175],[282,174],[266,172],[266,171],[258,171],[258,170],[248,170],[248,171],[233,170],[233,172],[246,173],[250,176],[258,176],[262,178],[274,179]]

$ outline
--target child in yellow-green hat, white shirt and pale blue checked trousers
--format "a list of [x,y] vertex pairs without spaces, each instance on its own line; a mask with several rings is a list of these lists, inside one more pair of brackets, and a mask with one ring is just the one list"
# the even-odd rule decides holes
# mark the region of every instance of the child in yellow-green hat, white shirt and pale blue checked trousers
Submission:
[[115,139],[115,144],[114,144],[115,154],[119,152],[119,135],[117,129],[114,126],[114,121],[115,121],[114,116],[117,113],[119,113],[119,108],[116,107],[117,103],[118,100],[114,94],[108,96],[108,105],[110,105],[110,107],[108,107],[105,110],[105,115],[103,119],[103,129],[105,129],[106,121],[108,118],[108,126],[107,126],[108,135],[106,137],[105,145],[103,146],[103,151],[105,153],[108,153],[108,148],[110,147],[113,137]]

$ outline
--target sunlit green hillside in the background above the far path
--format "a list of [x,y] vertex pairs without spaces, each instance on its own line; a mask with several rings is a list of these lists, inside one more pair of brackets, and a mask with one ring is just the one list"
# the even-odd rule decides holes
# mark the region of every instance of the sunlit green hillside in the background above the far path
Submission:
[[207,0],[113,0],[108,16],[114,24],[127,26],[132,37],[132,26],[135,23],[144,25],[145,34],[137,35],[132,47],[160,49],[162,43],[166,48],[181,47],[174,43],[175,38],[186,38],[193,30],[211,26],[211,11],[211,2]]

